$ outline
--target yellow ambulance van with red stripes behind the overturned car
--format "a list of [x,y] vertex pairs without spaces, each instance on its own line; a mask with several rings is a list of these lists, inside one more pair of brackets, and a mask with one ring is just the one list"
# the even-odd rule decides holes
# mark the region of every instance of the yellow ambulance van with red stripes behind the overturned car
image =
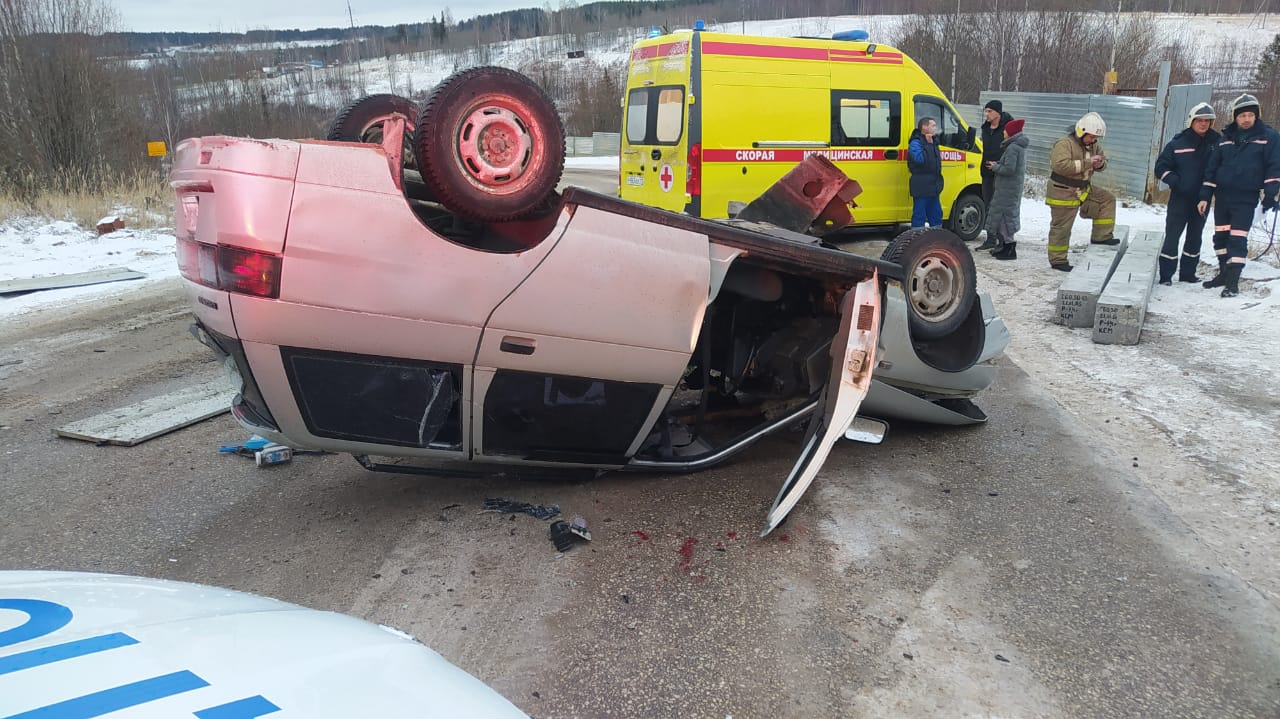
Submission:
[[914,60],[864,31],[832,38],[677,31],[632,46],[623,96],[620,196],[727,217],[812,154],[863,193],[855,228],[911,220],[906,145],[916,118],[938,122],[942,212],[963,239],[982,230],[982,148],[974,128]]

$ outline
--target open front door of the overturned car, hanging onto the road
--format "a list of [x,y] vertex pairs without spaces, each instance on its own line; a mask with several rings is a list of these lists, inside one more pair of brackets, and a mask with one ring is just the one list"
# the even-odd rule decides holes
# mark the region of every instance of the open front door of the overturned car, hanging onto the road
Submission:
[[858,416],[872,385],[876,339],[879,334],[879,274],[858,283],[840,303],[840,329],[831,340],[831,376],[809,420],[804,450],[773,500],[760,536],[772,532],[818,476],[836,440]]

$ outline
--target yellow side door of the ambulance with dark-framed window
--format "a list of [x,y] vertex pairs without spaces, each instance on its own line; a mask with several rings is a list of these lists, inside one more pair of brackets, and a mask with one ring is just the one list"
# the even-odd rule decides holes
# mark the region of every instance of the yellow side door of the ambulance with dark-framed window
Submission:
[[863,193],[854,209],[855,225],[878,225],[911,217],[906,179],[906,134],[902,96],[890,91],[831,91],[828,157],[858,180]]

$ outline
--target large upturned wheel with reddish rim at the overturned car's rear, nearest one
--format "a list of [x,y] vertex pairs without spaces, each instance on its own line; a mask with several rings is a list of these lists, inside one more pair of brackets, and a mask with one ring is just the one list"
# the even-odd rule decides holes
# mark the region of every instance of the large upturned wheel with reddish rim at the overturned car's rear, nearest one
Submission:
[[545,212],[564,170],[564,125],[534,81],[462,70],[426,99],[417,127],[422,180],[449,211],[489,223]]

